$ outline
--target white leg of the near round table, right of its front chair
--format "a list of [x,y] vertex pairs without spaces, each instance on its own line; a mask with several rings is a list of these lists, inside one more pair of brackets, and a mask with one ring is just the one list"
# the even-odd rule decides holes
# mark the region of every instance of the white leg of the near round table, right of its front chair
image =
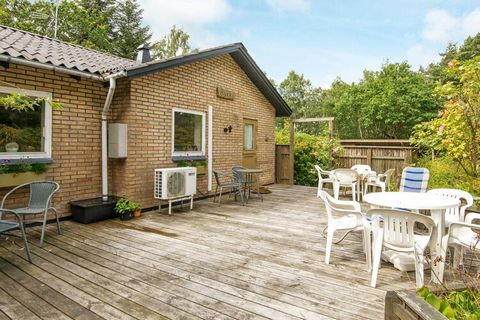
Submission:
[[432,218],[435,221],[436,228],[433,230],[432,239],[430,241],[430,254],[432,258],[432,281],[441,283],[443,281],[443,270],[445,261],[437,258],[442,254],[442,239],[445,235],[445,210],[431,210]]

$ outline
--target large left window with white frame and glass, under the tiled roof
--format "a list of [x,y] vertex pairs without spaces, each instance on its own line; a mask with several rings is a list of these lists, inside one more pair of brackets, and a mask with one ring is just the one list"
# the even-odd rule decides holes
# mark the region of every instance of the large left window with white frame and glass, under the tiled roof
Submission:
[[[0,95],[10,93],[51,99],[47,92],[0,87]],[[0,106],[0,158],[51,158],[51,124],[52,108],[48,101],[28,111],[6,110]]]

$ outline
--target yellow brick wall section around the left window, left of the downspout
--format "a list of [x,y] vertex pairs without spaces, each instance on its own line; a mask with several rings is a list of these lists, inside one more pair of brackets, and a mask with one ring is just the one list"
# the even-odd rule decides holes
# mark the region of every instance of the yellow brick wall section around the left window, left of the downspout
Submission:
[[[0,67],[0,86],[51,92],[64,104],[52,116],[52,158],[47,178],[60,184],[54,206],[69,214],[68,202],[101,193],[100,114],[107,89],[103,82],[76,80],[66,74],[10,64]],[[1,178],[1,176],[0,176]],[[9,188],[0,189],[0,196]],[[26,199],[16,198],[13,206]],[[10,205],[10,204],[9,204]]]

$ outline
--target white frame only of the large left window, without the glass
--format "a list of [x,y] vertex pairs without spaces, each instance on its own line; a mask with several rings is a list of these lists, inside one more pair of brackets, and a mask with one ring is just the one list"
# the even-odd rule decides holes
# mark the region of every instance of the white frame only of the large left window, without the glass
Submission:
[[26,90],[19,88],[0,87],[0,94],[18,93],[33,98],[46,98],[44,104],[43,116],[43,132],[42,139],[44,150],[42,152],[2,152],[0,151],[0,159],[16,160],[16,159],[51,159],[52,158],[52,93],[46,91]]

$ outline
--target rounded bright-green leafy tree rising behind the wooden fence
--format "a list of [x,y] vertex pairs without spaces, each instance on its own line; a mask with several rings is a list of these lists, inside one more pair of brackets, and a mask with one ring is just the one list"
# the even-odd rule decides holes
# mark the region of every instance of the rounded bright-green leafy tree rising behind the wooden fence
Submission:
[[379,72],[364,72],[357,99],[364,138],[405,139],[412,128],[436,116],[440,104],[434,84],[406,63],[386,63]]

